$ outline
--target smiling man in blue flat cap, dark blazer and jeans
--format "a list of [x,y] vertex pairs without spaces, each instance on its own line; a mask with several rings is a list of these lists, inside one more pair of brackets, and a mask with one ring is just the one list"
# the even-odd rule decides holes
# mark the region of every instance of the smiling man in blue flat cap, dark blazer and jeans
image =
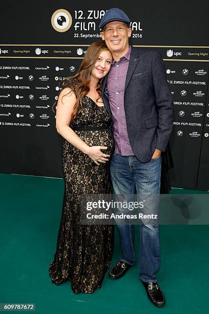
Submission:
[[[115,153],[111,178],[116,194],[153,193],[159,197],[161,152],[173,125],[173,101],[161,55],[129,45],[130,19],[113,8],[102,17],[101,37],[114,63],[103,81],[103,102],[112,116]],[[157,212],[158,204],[154,205]],[[121,278],[135,264],[134,225],[117,225],[121,256],[110,270]],[[139,278],[156,306],[165,298],[156,272],[160,266],[159,228],[140,225]]]

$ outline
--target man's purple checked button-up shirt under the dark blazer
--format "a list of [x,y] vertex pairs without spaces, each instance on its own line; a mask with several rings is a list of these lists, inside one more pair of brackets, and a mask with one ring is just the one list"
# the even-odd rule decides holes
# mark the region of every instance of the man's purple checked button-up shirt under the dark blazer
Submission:
[[110,109],[113,114],[113,134],[115,139],[115,152],[122,156],[134,155],[127,132],[126,116],[124,111],[124,89],[129,67],[131,46],[129,51],[114,62],[110,68],[107,89]]

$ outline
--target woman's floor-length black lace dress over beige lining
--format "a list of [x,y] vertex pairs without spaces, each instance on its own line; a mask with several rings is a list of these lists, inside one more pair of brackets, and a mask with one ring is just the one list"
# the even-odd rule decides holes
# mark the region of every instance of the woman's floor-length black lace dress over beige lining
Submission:
[[[111,117],[105,107],[99,107],[90,97],[83,97],[82,111],[70,127],[101,127],[106,130],[75,131],[89,146],[107,146],[114,150],[110,132]],[[59,285],[68,280],[75,294],[92,293],[101,287],[110,266],[114,226],[80,225],[79,201],[81,194],[109,194],[112,192],[110,162],[98,166],[90,157],[68,141],[62,145],[62,168],[65,192],[62,204],[56,252],[49,266],[51,282]]]

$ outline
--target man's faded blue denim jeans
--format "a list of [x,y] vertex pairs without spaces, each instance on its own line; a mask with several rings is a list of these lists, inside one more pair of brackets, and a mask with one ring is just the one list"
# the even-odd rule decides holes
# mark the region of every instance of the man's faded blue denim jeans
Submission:
[[[116,194],[155,193],[160,191],[161,157],[141,163],[135,156],[114,153],[111,159],[111,179]],[[158,213],[158,203],[154,205]],[[152,207],[153,211],[153,207]],[[159,227],[140,225],[139,278],[145,282],[157,282],[160,266]],[[134,225],[117,224],[121,256],[120,261],[134,265]]]

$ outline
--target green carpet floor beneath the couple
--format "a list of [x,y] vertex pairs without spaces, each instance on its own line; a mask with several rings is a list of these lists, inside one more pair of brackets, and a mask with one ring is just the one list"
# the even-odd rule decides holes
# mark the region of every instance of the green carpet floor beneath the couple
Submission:
[[[74,295],[70,282],[50,282],[49,264],[56,247],[64,181],[37,176],[0,174],[0,303],[35,303],[37,313],[207,313],[209,251],[207,225],[160,226],[158,272],[166,305],[156,308],[138,279],[137,265],[92,295]],[[186,190],[172,190],[172,193]],[[194,191],[192,191],[194,193]],[[138,226],[137,226],[138,227]],[[138,256],[139,229],[136,227]],[[116,232],[112,265],[119,256]]]

